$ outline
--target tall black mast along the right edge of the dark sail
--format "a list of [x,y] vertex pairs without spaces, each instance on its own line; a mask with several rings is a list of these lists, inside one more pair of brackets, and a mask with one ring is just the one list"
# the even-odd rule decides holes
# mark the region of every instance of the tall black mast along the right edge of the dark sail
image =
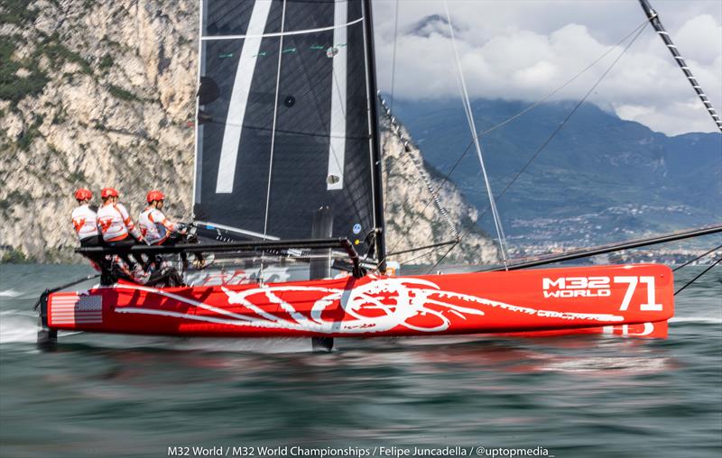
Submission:
[[368,97],[369,134],[371,136],[371,177],[374,189],[374,222],[376,259],[380,261],[378,270],[386,270],[386,243],[384,233],[384,197],[382,195],[381,148],[378,133],[378,114],[376,113],[376,66],[374,52],[374,25],[371,12],[371,0],[363,0],[364,35],[366,39],[366,84]]

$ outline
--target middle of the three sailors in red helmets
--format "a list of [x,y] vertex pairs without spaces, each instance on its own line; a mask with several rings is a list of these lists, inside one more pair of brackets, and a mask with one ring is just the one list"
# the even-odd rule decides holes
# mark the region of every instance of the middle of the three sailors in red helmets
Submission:
[[[114,188],[103,188],[100,197],[103,205],[97,210],[97,227],[106,245],[130,248],[136,243],[143,243],[143,235],[133,224],[125,206],[118,203],[118,191]],[[131,270],[134,269],[135,263],[127,254],[122,253],[119,256]]]

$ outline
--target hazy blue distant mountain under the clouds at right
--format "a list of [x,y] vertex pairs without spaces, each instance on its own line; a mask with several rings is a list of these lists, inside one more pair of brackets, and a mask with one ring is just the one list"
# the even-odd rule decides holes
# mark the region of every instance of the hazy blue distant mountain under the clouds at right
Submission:
[[[476,100],[480,133],[529,104]],[[486,169],[498,197],[569,115],[576,103],[542,104],[481,135]],[[396,101],[424,159],[446,175],[470,146],[466,116],[457,101]],[[493,234],[477,154],[469,147],[449,179],[484,213]],[[722,135],[668,137],[583,104],[532,160],[498,207],[511,244],[584,246],[625,240],[722,220]]]

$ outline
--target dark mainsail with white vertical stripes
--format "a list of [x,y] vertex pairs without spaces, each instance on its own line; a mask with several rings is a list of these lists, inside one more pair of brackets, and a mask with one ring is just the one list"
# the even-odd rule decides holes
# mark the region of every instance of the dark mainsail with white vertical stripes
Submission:
[[310,238],[320,207],[333,236],[383,227],[369,4],[201,0],[200,227]]

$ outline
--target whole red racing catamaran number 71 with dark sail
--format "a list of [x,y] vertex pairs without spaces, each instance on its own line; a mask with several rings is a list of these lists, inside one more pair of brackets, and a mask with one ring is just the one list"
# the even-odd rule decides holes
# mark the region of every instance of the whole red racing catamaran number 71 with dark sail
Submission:
[[722,229],[504,259],[495,271],[386,275],[370,0],[201,0],[199,27],[201,243],[130,252],[213,253],[214,263],[185,271],[187,286],[104,277],[46,291],[40,344],[55,344],[59,330],[303,336],[325,349],[334,337],[663,337],[674,307],[667,266],[523,269]]

